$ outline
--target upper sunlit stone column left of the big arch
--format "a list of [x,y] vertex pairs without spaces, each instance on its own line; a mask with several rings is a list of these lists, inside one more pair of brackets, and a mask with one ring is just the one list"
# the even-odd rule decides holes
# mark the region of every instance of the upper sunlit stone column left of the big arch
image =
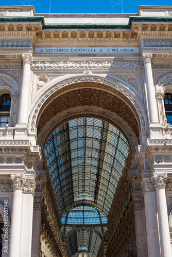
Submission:
[[29,95],[30,95],[30,64],[32,61],[31,53],[23,53],[23,77],[20,93],[20,109],[19,109],[19,122],[20,124],[27,125]]

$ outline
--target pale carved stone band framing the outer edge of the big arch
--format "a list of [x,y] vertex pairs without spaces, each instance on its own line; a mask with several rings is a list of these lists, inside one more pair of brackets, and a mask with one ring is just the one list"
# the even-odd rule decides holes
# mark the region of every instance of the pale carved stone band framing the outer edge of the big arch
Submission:
[[141,104],[139,102],[137,102],[134,97],[131,95],[131,92],[129,90],[127,90],[126,88],[124,88],[122,85],[118,85],[117,83],[110,81],[110,80],[105,80],[102,78],[95,78],[95,77],[88,77],[88,78],[74,78],[71,79],[69,81],[64,81],[62,83],[60,83],[59,85],[54,85],[53,88],[49,89],[38,98],[38,101],[33,105],[30,115],[29,115],[29,120],[28,120],[28,124],[30,123],[30,118],[31,115],[33,113],[33,110],[35,109],[33,115],[32,115],[32,120],[31,120],[31,131],[34,132],[35,131],[35,123],[36,123],[36,118],[39,112],[39,109],[41,108],[42,104],[44,103],[44,101],[51,95],[53,94],[56,90],[58,90],[59,88],[66,86],[66,85],[70,85],[76,82],[100,82],[100,83],[104,83],[106,85],[110,85],[114,88],[116,88],[117,90],[121,91],[127,98],[130,99],[130,101],[132,102],[132,104],[135,106],[137,112],[139,113],[140,116],[140,120],[142,123],[142,131],[146,131],[146,124],[147,124],[147,119],[144,118],[146,117],[145,112],[143,111],[143,109],[141,110]]

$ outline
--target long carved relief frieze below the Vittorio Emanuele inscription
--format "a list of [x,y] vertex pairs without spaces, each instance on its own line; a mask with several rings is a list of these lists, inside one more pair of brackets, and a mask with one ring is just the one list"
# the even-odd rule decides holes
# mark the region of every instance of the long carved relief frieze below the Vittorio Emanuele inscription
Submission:
[[82,62],[70,62],[70,61],[60,61],[60,62],[47,62],[39,61],[31,65],[32,69],[142,69],[142,64],[140,61],[82,61]]

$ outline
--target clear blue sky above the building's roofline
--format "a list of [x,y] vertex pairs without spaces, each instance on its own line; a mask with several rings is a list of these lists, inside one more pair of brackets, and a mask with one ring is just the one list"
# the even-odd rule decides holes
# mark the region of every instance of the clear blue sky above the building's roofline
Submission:
[[136,13],[139,5],[172,5],[171,0],[0,0],[0,5],[34,5],[36,13]]

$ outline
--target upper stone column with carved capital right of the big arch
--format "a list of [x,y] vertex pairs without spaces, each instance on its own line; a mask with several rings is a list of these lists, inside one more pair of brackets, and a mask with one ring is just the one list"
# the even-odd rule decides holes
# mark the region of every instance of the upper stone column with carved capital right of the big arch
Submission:
[[152,53],[143,53],[142,59],[145,66],[149,121],[150,123],[159,123],[158,108],[157,108],[157,102],[155,97],[156,92],[154,90],[153,77],[152,77],[151,58],[152,58]]

